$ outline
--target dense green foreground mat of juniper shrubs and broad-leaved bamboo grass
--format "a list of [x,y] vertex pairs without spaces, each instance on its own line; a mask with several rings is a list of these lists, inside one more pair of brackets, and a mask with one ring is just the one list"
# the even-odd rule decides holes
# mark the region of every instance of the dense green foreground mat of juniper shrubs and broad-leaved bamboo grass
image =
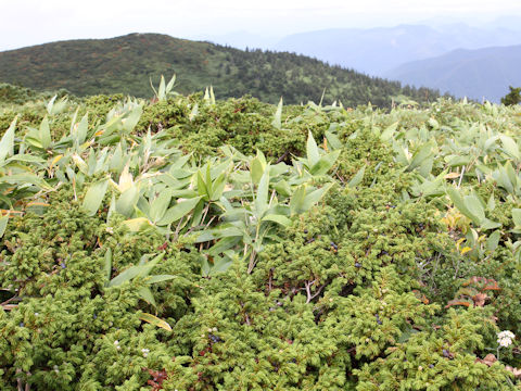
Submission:
[[2,390],[521,388],[521,109],[0,103]]

